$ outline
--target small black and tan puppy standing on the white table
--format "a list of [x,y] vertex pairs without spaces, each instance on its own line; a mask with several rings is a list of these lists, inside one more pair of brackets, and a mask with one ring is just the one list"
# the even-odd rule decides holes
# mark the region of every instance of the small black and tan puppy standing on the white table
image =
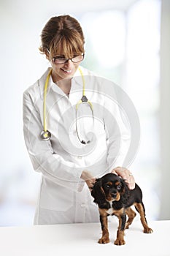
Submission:
[[[102,236],[98,240],[99,244],[109,243],[109,231],[107,226],[107,217],[109,215],[115,215],[119,219],[115,244],[125,244],[124,230],[131,225],[131,222],[133,222],[136,216],[135,211],[131,209],[132,205],[135,206],[136,211],[140,214],[144,233],[152,233],[152,229],[148,227],[145,217],[142,190],[137,184],[135,184],[134,189],[130,190],[122,178],[114,173],[107,173],[96,180],[91,195],[94,197],[94,202],[98,204],[100,214]],[[126,214],[128,215],[127,222]]]

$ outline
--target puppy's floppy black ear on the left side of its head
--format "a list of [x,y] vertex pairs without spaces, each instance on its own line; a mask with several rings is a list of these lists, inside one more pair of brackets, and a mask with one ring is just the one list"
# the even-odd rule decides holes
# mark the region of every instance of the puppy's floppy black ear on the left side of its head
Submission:
[[99,208],[102,208],[104,203],[106,203],[106,196],[104,189],[101,186],[101,178],[96,179],[96,183],[93,185],[91,195],[94,197],[93,202],[97,203]]

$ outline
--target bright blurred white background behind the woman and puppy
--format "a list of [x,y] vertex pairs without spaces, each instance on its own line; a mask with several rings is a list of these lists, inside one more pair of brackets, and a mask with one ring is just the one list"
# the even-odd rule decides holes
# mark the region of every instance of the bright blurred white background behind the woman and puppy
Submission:
[[170,1],[1,0],[0,226],[33,223],[40,174],[23,140],[22,97],[49,66],[38,49],[42,28],[63,14],[84,31],[82,66],[113,80],[134,102],[141,143],[130,169],[147,219],[170,219]]

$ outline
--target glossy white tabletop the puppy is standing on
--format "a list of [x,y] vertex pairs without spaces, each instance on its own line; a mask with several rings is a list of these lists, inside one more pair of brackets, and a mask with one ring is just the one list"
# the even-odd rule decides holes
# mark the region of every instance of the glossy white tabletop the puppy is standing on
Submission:
[[117,222],[109,223],[109,244],[98,244],[100,223],[0,227],[1,256],[57,255],[170,255],[170,220],[150,222],[152,234],[142,233],[142,225],[134,221],[125,231],[123,246],[113,244]]

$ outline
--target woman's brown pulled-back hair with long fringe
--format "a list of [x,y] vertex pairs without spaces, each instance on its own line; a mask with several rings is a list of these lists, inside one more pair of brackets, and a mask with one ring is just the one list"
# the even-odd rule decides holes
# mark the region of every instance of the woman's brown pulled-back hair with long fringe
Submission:
[[50,18],[41,34],[41,53],[50,51],[50,56],[64,55],[72,58],[80,55],[84,50],[84,35],[80,23],[69,15]]

